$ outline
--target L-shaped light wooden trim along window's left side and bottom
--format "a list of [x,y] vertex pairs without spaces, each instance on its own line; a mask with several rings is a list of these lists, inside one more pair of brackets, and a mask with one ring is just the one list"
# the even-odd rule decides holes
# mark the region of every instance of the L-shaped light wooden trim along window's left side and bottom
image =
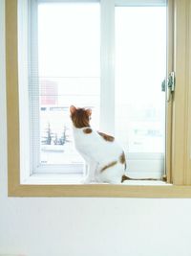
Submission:
[[[191,186],[21,185],[19,155],[17,0],[6,1],[9,197],[191,198]],[[14,131],[14,132],[13,132]]]

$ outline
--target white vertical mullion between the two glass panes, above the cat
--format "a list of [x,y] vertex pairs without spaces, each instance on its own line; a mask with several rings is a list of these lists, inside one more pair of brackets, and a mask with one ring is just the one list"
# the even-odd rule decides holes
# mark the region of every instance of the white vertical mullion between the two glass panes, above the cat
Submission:
[[[100,128],[115,132],[115,1],[101,0]],[[107,117],[107,118],[106,118]],[[107,122],[105,120],[107,119]]]

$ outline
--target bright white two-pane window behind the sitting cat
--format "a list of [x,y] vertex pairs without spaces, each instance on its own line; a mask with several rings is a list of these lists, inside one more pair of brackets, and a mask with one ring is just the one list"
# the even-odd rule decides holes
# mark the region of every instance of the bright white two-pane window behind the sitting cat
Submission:
[[[112,5],[104,23],[106,11],[99,2],[26,3],[28,9],[22,1],[18,5],[18,54],[26,52],[27,68],[19,61],[19,91],[25,86],[20,105],[28,108],[30,120],[30,174],[83,175],[69,114],[69,106],[77,105],[93,108],[93,127],[115,134],[127,155],[129,175],[160,178],[165,155],[165,93],[160,84],[166,75],[166,4]],[[111,66],[109,57],[114,55]],[[107,76],[110,80],[101,80]],[[22,119],[20,126],[26,129]]]

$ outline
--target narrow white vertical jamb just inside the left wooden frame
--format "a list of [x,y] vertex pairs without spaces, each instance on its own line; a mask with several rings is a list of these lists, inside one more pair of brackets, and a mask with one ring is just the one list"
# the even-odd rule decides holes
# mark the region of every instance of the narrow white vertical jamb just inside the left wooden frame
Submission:
[[19,134],[20,180],[30,176],[30,102],[29,102],[29,24],[28,0],[18,0],[18,85],[19,85]]

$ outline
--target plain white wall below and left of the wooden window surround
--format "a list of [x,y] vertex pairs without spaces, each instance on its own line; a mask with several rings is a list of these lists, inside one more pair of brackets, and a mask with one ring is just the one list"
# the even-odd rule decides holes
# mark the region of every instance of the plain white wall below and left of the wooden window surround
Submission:
[[0,254],[191,256],[191,199],[8,198],[0,0]]

